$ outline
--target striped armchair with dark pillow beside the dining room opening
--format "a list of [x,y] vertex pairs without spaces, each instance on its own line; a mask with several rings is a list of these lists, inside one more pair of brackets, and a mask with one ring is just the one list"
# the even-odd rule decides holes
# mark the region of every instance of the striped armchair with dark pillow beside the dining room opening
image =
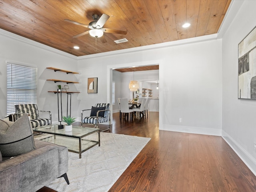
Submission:
[[[91,110],[90,116],[83,116],[84,111]],[[85,109],[81,112],[81,125],[83,123],[85,124],[94,124],[95,128],[98,128],[99,123],[109,122],[109,126],[105,130],[100,131],[106,131],[110,129],[110,109],[109,109],[109,103],[97,103],[95,104],[95,107],[92,107],[92,109]]]

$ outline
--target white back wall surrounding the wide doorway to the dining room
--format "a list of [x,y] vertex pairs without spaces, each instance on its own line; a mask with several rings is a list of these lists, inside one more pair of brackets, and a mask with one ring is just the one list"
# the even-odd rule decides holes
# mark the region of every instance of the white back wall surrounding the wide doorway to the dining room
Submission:
[[[130,50],[129,50],[130,51]],[[155,63],[156,61],[156,63]],[[109,69],[158,64],[160,129],[220,135],[222,128],[221,40],[126,53],[79,57],[78,70],[96,68],[99,83],[110,84]],[[106,75],[107,73],[107,75]],[[109,80],[109,79],[110,80]],[[127,82],[131,78],[127,79]],[[122,79],[122,82],[124,79]],[[108,85],[107,86],[110,86]],[[122,84],[122,87],[128,85]],[[96,97],[108,97],[106,87]],[[129,93],[127,93],[129,94]],[[122,91],[122,96],[127,95]],[[108,98],[110,99],[110,98]],[[95,98],[95,101],[98,98]],[[162,104],[161,104],[162,101]],[[94,100],[90,100],[94,102]],[[86,98],[79,108],[88,105]],[[182,122],[179,119],[182,118]]]

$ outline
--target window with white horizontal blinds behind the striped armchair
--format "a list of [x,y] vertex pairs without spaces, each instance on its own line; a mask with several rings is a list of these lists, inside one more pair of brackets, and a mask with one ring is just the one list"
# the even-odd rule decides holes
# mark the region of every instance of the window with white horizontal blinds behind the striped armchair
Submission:
[[7,114],[30,103],[37,104],[37,68],[7,63]]

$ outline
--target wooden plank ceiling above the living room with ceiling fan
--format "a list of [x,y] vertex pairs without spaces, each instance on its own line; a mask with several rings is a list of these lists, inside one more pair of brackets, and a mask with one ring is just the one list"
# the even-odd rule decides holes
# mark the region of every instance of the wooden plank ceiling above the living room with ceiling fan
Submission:
[[[0,28],[58,50],[84,56],[122,50],[218,32],[231,0],[0,0]],[[127,31],[126,35],[90,30],[64,19],[88,25],[92,15],[110,18],[104,28]],[[189,22],[189,28],[182,24]],[[116,44],[114,40],[128,42]],[[104,40],[106,40],[104,42]],[[79,46],[75,50],[73,47]]]

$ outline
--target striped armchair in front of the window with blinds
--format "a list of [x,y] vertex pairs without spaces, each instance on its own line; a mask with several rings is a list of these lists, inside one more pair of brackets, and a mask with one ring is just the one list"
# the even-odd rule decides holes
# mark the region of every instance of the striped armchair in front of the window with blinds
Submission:
[[[40,118],[39,112],[48,112],[49,119]],[[39,111],[36,104],[19,104],[15,105],[15,114],[20,118],[22,114],[29,114],[30,115],[30,122],[32,124],[32,128],[44,126],[44,125],[51,125],[52,124],[52,114],[50,111]],[[17,118],[17,117],[16,117]]]

